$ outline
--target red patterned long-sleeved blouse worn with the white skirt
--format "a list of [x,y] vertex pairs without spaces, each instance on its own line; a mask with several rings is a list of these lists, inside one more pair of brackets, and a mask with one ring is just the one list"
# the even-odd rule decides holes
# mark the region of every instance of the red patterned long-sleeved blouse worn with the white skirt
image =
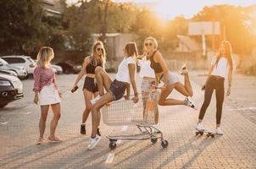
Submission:
[[51,84],[53,84],[55,89],[58,90],[53,68],[36,67],[33,76],[35,79],[34,91],[39,92],[42,90],[43,86]]

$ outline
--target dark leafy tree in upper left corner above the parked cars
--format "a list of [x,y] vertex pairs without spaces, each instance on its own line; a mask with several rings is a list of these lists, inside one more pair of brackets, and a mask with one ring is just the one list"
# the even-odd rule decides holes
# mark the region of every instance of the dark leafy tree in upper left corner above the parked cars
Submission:
[[1,54],[31,53],[47,40],[40,0],[0,1]]

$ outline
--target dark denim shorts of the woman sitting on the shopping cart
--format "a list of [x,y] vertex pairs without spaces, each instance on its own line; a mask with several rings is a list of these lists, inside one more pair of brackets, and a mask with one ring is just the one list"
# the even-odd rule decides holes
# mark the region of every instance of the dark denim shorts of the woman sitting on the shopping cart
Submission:
[[125,82],[114,79],[110,85],[109,93],[114,95],[114,100],[118,101],[125,95],[126,85]]

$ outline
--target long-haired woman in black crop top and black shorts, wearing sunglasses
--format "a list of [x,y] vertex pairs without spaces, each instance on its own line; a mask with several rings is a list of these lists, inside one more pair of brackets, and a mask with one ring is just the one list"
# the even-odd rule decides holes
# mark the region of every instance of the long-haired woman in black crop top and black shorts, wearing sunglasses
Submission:
[[[85,83],[83,86],[83,93],[86,102],[86,109],[82,115],[82,123],[81,123],[81,134],[86,134],[86,120],[89,116],[89,113],[92,109],[92,97],[97,97],[98,89],[97,83],[95,80],[95,68],[97,66],[104,69],[105,64],[105,49],[103,47],[103,42],[96,41],[92,46],[92,55],[86,57],[81,68],[81,72],[78,74],[77,78],[75,79],[75,84],[73,86],[73,90],[77,87],[77,84],[81,80],[81,78],[86,75]],[[99,123],[98,125],[99,126]],[[99,128],[97,129],[97,134],[99,133]]]

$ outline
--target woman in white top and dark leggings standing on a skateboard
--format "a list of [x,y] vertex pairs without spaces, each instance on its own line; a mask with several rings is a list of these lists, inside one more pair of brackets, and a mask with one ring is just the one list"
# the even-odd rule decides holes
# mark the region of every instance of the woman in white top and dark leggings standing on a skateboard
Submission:
[[204,91],[204,101],[203,106],[201,107],[200,114],[198,117],[198,126],[197,129],[199,131],[203,131],[203,116],[209,106],[211,101],[211,97],[215,90],[216,93],[216,134],[222,135],[222,131],[220,129],[220,120],[222,114],[222,105],[224,101],[224,81],[225,78],[228,77],[228,90],[226,95],[231,95],[231,82],[232,82],[232,74],[235,69],[235,62],[232,57],[231,51],[231,43],[229,41],[222,41],[220,43],[220,52],[214,57],[211,67],[209,68],[209,74],[205,81],[205,85],[203,85],[202,90]]

